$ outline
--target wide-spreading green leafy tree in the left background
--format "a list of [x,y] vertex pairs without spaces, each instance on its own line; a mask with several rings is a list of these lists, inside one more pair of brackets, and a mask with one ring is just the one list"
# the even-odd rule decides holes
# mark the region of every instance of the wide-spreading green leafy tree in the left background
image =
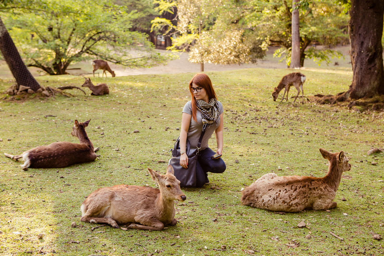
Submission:
[[[50,75],[64,74],[71,63],[101,58],[131,68],[164,63],[169,55],[153,51],[146,34],[132,32],[136,11],[76,0],[18,1],[3,10],[5,24],[28,66]],[[133,52],[132,52],[133,51]]]

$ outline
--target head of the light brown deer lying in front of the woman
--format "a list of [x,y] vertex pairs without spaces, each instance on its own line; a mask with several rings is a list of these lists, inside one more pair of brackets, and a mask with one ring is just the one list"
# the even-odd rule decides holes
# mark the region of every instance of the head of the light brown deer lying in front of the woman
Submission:
[[177,200],[184,202],[187,196],[180,189],[180,181],[173,175],[174,170],[171,165],[168,165],[167,173],[161,175],[156,171],[148,168],[152,180],[159,184],[161,196],[168,200]]

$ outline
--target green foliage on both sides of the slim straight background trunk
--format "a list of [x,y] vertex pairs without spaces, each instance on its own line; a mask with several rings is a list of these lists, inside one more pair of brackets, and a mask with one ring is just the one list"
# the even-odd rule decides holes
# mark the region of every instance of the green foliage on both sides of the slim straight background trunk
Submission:
[[[331,0],[300,1],[300,48],[301,62],[305,58],[316,56],[316,62],[328,62],[329,58],[339,55],[333,50],[306,50],[311,43],[335,46],[348,42],[348,15],[343,7],[334,5]],[[249,11],[246,22],[259,29],[260,37],[266,38],[271,45],[283,49],[276,51],[276,57],[284,57],[289,66],[291,58],[291,2],[285,0],[248,2]]]

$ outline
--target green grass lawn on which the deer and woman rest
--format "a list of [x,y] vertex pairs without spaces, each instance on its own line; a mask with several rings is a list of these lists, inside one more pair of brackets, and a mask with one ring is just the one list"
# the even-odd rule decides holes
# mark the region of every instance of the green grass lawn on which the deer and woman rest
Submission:
[[[283,92],[274,102],[273,88],[290,72],[207,72],[224,106],[227,170],[209,174],[209,186],[183,189],[187,200],[175,203],[179,223],[163,231],[124,231],[110,226],[91,231],[99,224],[80,222],[80,206],[84,196],[97,188],[121,183],[155,186],[151,176],[146,176],[147,168],[166,170],[168,151],[179,135],[176,128],[181,125],[182,107],[190,99],[187,84],[194,74],[94,78],[95,84],[108,84],[106,96],[90,96],[88,88],[86,96],[69,90],[74,98],[23,95],[29,97],[26,100],[2,94],[1,154],[17,155],[55,141],[78,142],[70,135],[75,119],[91,119],[86,131],[101,149],[94,162],[61,169],[23,171],[20,162],[2,158],[0,255],[40,255],[41,251],[66,256],[245,255],[248,250],[255,255],[381,255],[381,241],[372,235],[383,235],[384,183],[378,181],[384,180],[383,157],[366,152],[384,146],[384,116],[376,111],[356,113],[339,105],[316,105],[306,98],[304,105],[292,104],[291,98],[281,103]],[[307,77],[306,96],[346,91],[352,78],[348,68],[301,72]],[[52,87],[80,86],[84,81],[68,75],[37,79]],[[0,91],[10,85],[0,80]],[[291,88],[290,97],[294,95]],[[135,129],[140,132],[133,133]],[[216,146],[214,136],[210,146]],[[337,208],[279,215],[241,205],[241,188],[265,173],[324,176],[328,166],[319,148],[343,150],[353,165],[341,180]],[[302,220],[307,228],[297,227]],[[73,221],[76,228],[71,228]],[[39,233],[42,239],[37,238]],[[305,238],[308,234],[310,239]],[[222,245],[226,249],[218,250]]]

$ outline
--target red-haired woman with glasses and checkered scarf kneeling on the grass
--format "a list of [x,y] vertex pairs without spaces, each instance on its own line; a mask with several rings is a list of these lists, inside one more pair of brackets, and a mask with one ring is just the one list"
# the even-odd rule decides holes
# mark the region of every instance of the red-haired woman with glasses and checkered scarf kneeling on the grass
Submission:
[[[187,139],[190,148],[197,148],[200,135],[205,131],[201,142],[196,164],[196,187],[209,184],[207,172],[223,173],[225,171],[224,161],[218,157],[211,156],[223,152],[223,105],[217,101],[217,96],[212,82],[205,74],[198,73],[189,82],[189,90],[192,100],[188,101],[183,108],[183,117],[180,131],[180,165],[187,168],[188,156],[185,153]],[[212,133],[216,135],[216,153],[208,147],[208,140]]]

